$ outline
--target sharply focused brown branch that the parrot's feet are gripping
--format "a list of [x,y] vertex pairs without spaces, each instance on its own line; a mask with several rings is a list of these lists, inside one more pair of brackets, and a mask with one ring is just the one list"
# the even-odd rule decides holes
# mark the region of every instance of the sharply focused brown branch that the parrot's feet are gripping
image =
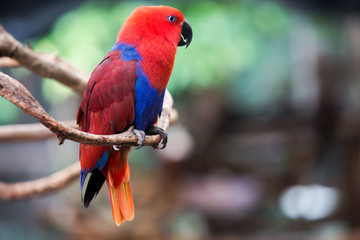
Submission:
[[[18,81],[0,72],[0,95],[21,108],[25,113],[37,118],[40,123],[54,132],[62,144],[65,139],[92,145],[127,145],[136,146],[137,137],[132,132],[114,135],[96,135],[86,133],[53,119],[36,101],[31,93]],[[170,125],[170,113],[173,100],[170,94],[165,94],[163,111],[158,126],[167,130]],[[144,145],[157,146],[161,138],[159,135],[146,136]]]

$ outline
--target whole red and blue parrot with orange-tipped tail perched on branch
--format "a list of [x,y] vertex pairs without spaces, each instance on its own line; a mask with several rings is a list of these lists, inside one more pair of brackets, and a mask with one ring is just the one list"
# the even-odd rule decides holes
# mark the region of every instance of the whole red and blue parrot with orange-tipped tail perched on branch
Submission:
[[[139,147],[145,133],[164,130],[153,125],[161,114],[177,46],[188,46],[192,29],[183,14],[167,6],[136,8],[124,22],[116,43],[94,69],[83,94],[77,124],[84,132],[109,135],[130,126]],[[130,147],[80,144],[81,192],[91,173],[83,199],[88,207],[106,180],[116,225],[134,217],[127,156]]]

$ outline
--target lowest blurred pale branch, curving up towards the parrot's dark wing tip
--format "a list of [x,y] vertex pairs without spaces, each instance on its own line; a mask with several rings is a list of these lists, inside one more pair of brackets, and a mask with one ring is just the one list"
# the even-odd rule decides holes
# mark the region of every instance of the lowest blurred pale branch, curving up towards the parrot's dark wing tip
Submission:
[[65,188],[78,179],[79,173],[80,166],[76,162],[48,177],[18,183],[0,182],[0,198],[10,201],[49,194]]

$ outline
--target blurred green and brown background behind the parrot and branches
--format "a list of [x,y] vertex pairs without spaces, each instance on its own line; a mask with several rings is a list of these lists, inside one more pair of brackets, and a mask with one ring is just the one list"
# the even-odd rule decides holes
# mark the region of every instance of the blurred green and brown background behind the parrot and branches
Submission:
[[[20,3],[20,1],[19,1]],[[358,239],[360,16],[354,1],[4,2],[0,22],[38,51],[91,72],[137,6],[170,5],[193,28],[168,89],[179,111],[161,151],[130,156],[135,219],[112,222],[106,189],[78,183],[0,201],[0,239]],[[1,69],[57,120],[80,98],[51,79]],[[0,124],[36,122],[0,99]],[[1,143],[0,180],[78,161],[78,144]]]

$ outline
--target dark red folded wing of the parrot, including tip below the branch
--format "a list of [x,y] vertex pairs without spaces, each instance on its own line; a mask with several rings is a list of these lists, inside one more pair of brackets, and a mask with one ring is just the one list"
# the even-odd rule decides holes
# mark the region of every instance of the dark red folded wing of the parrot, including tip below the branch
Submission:
[[[82,131],[115,134],[134,121],[137,61],[122,60],[120,53],[119,50],[108,53],[91,74],[77,115]],[[109,148],[80,144],[81,180],[85,180],[88,172],[105,166]]]

